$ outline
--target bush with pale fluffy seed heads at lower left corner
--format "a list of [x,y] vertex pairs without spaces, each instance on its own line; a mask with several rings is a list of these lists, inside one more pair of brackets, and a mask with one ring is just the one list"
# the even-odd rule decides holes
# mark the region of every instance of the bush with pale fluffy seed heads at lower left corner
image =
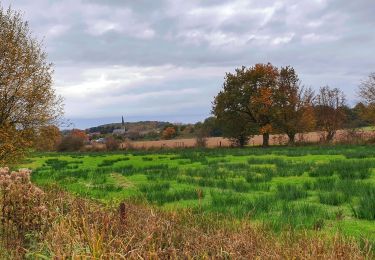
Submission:
[[26,169],[10,172],[8,168],[0,168],[0,219],[5,244],[12,239],[21,244],[31,242],[50,225],[45,194],[31,183],[30,174]]

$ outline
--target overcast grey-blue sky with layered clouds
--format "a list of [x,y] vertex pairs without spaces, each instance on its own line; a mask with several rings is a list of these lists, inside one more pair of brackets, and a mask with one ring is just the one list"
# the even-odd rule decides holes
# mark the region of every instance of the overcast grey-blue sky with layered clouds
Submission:
[[54,64],[72,127],[196,122],[226,72],[271,62],[349,104],[375,71],[374,0],[0,0]]

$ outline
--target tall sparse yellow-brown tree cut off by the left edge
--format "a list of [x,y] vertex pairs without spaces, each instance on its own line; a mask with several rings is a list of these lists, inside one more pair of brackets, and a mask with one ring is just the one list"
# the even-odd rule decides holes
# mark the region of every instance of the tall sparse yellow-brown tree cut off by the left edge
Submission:
[[0,164],[16,162],[61,114],[41,44],[20,13],[0,7]]

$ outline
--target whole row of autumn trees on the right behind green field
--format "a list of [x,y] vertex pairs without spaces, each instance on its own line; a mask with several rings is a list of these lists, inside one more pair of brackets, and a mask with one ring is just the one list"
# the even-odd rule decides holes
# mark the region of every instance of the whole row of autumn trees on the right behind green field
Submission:
[[361,82],[358,94],[362,101],[349,108],[338,88],[324,86],[315,93],[301,84],[291,66],[256,64],[226,74],[212,114],[223,136],[239,146],[255,134],[261,134],[263,146],[268,146],[271,133],[286,134],[293,144],[298,133],[313,130],[331,142],[339,129],[374,122],[375,73]]

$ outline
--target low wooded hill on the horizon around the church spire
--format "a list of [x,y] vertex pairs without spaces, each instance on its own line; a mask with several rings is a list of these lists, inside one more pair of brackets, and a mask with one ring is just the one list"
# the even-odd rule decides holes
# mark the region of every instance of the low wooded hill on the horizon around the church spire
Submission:
[[[149,131],[161,131],[169,122],[162,121],[139,121],[139,122],[125,122],[125,127],[128,132],[149,132]],[[121,123],[112,123],[99,125],[96,127],[90,127],[86,129],[89,133],[100,132],[101,134],[112,133],[115,129],[120,129]]]

